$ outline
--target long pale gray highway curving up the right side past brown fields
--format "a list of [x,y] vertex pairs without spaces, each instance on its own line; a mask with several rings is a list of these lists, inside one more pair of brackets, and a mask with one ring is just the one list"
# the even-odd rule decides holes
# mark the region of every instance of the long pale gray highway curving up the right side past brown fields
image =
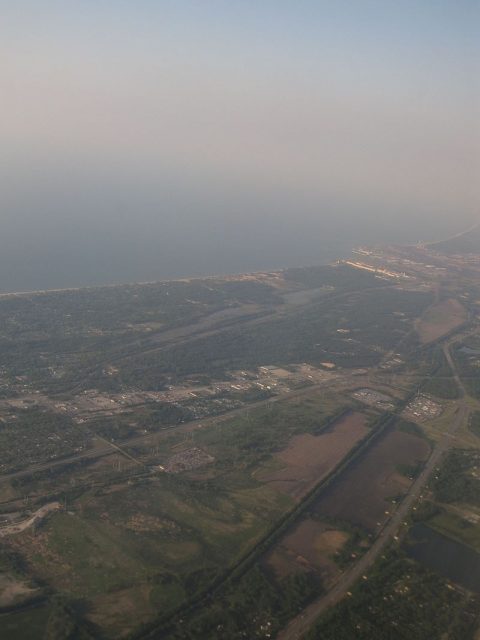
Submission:
[[[455,380],[459,386],[462,396],[466,395],[465,388],[460,380],[455,364],[450,354],[448,346],[444,347],[445,357],[452,369]],[[353,587],[353,585],[364,576],[370,567],[373,565],[378,556],[382,553],[385,547],[391,542],[397,535],[402,523],[408,515],[411,507],[418,499],[422,489],[425,487],[433,471],[439,466],[442,457],[452,446],[455,433],[460,427],[465,424],[465,421],[469,415],[469,407],[462,398],[458,403],[458,409],[455,418],[450,425],[449,429],[445,432],[445,435],[435,446],[430,458],[428,459],[421,474],[415,480],[410,487],[409,493],[400,503],[400,506],[395,511],[391,519],[387,522],[384,528],[379,533],[377,539],[358,562],[353,567],[345,571],[339,578],[335,586],[323,597],[313,602],[309,607],[303,610],[296,618],[294,618],[290,624],[280,632],[277,636],[277,640],[298,640],[302,638],[304,634],[312,628],[315,620],[324,613],[327,609],[337,604],[342,600]]]

